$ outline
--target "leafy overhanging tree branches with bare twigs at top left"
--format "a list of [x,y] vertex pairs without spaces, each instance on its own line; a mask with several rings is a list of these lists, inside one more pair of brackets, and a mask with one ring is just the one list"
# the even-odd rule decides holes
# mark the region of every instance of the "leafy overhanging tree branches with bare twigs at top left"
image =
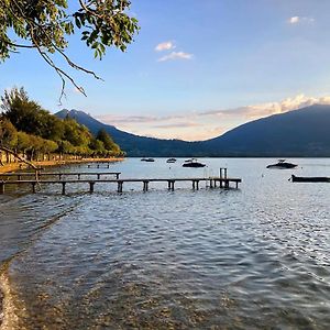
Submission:
[[114,46],[124,52],[140,29],[138,20],[127,13],[130,6],[129,0],[78,0],[75,9],[69,9],[67,0],[0,0],[0,61],[8,59],[20,48],[36,50],[61,77],[61,96],[66,79],[85,95],[84,88],[56,65],[52,54],[61,55],[70,67],[100,79],[67,56],[67,37],[79,31],[80,40],[100,59],[106,47]]

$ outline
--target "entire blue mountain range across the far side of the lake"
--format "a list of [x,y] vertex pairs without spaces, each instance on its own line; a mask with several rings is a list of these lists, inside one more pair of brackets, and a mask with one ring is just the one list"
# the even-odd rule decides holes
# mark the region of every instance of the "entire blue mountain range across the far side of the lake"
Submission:
[[128,156],[328,157],[330,106],[315,105],[242,124],[215,139],[186,142],[134,135],[78,110],[62,110],[94,134],[106,130]]

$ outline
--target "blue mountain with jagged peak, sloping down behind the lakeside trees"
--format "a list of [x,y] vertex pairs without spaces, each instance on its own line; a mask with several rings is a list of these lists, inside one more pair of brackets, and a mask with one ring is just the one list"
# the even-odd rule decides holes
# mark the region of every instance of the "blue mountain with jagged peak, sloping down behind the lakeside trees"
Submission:
[[68,116],[78,123],[86,125],[94,134],[97,134],[101,129],[106,130],[129,156],[191,157],[194,155],[202,155],[199,151],[198,143],[196,142],[153,139],[127,133],[118,130],[113,125],[105,124],[82,111],[64,109],[55,113],[55,116],[62,119]]

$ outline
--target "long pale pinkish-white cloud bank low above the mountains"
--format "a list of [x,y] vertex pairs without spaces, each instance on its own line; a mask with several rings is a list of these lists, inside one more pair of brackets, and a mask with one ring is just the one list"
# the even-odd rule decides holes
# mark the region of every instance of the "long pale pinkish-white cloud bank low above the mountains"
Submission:
[[280,101],[249,105],[233,109],[186,111],[172,116],[100,116],[121,130],[139,135],[187,141],[207,140],[242,123],[272,114],[295,111],[312,105],[330,105],[330,96],[308,97],[304,94]]

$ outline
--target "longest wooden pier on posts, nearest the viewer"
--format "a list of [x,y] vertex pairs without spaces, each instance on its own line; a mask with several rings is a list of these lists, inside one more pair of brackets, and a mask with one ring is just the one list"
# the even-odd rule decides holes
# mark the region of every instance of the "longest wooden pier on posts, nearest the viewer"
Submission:
[[[80,176],[85,173],[53,173],[51,175],[53,176],[58,176],[59,175],[79,175]],[[113,174],[113,173],[112,173]],[[118,173],[117,173],[118,174]],[[8,174],[7,174],[8,175]],[[13,175],[18,175],[18,174],[13,174]],[[26,175],[26,174],[24,174]],[[43,175],[47,175],[46,173],[44,173]],[[48,174],[50,175],[50,174]],[[88,173],[88,175],[91,175],[90,173]],[[63,177],[61,177],[59,179],[44,179],[44,180],[38,180],[38,179],[18,179],[18,180],[0,180],[0,194],[4,194],[6,191],[6,186],[8,185],[30,185],[32,187],[32,193],[36,193],[36,186],[41,186],[41,185],[61,185],[62,186],[62,194],[65,195],[66,194],[66,187],[69,184],[87,184],[89,186],[89,193],[94,193],[95,190],[95,185],[96,184],[114,184],[117,185],[117,191],[118,193],[122,193],[123,191],[123,184],[125,183],[142,183],[142,190],[143,191],[147,191],[150,188],[150,184],[151,183],[167,183],[167,189],[168,190],[174,190],[175,188],[175,184],[176,183],[180,183],[180,182],[190,182],[193,189],[194,190],[198,190],[199,189],[199,183],[206,183],[209,184],[210,188],[230,188],[230,184],[234,184],[234,187],[238,189],[239,188],[239,183],[241,183],[242,180],[240,178],[228,178],[228,177],[196,177],[196,178],[191,178],[191,177],[185,177],[185,178],[116,178],[116,179],[102,179],[100,178],[101,175],[106,175],[106,173],[95,173],[94,175],[97,175],[97,179],[64,179]],[[118,174],[119,175],[119,174]]]

